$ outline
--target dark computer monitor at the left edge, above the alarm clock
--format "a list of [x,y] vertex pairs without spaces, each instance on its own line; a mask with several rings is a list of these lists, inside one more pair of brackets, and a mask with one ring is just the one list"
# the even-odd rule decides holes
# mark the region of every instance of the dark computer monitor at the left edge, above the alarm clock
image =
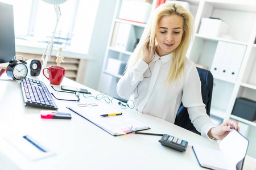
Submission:
[[0,2],[0,63],[15,56],[13,5]]

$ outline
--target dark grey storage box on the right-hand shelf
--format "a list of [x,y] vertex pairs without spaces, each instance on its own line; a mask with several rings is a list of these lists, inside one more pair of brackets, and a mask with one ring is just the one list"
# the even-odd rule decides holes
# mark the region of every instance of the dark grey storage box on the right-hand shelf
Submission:
[[245,98],[237,98],[232,114],[254,121],[256,120],[256,102]]

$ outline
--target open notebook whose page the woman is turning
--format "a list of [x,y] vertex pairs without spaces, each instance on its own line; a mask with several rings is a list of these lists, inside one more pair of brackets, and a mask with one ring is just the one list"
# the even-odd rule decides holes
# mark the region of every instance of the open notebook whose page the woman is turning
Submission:
[[232,130],[220,142],[220,150],[199,145],[192,146],[201,167],[210,169],[242,169],[249,141]]

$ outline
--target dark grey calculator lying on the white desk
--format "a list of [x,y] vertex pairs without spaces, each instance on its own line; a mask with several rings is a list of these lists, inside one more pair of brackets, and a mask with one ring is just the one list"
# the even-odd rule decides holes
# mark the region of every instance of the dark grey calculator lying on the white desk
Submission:
[[164,134],[163,137],[159,140],[161,145],[173,148],[174,150],[184,152],[188,146],[188,142],[182,139],[173,137],[168,134]]

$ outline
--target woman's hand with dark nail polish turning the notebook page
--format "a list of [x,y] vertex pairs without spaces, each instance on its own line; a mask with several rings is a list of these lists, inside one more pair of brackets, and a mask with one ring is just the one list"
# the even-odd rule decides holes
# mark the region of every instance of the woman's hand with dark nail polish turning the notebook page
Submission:
[[212,129],[210,129],[208,132],[208,136],[222,140],[226,137],[226,135],[229,134],[229,131],[231,131],[233,129],[236,129],[237,131],[240,130],[237,125],[237,122],[228,120]]

